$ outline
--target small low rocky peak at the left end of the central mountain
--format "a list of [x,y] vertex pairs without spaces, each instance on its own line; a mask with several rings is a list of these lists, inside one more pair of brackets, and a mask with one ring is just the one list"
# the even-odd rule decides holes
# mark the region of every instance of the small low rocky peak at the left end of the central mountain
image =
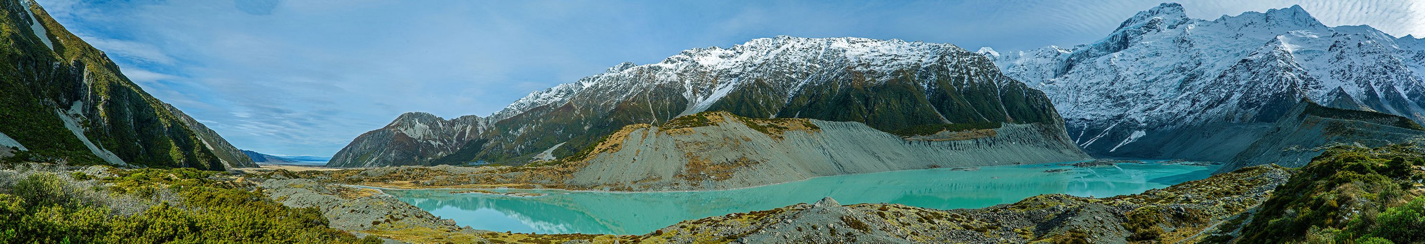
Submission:
[[[442,119],[432,113],[408,112],[385,128],[356,136],[326,163],[329,167],[372,167],[428,165],[479,138],[486,119],[467,115]],[[479,142],[476,142],[479,143]]]

